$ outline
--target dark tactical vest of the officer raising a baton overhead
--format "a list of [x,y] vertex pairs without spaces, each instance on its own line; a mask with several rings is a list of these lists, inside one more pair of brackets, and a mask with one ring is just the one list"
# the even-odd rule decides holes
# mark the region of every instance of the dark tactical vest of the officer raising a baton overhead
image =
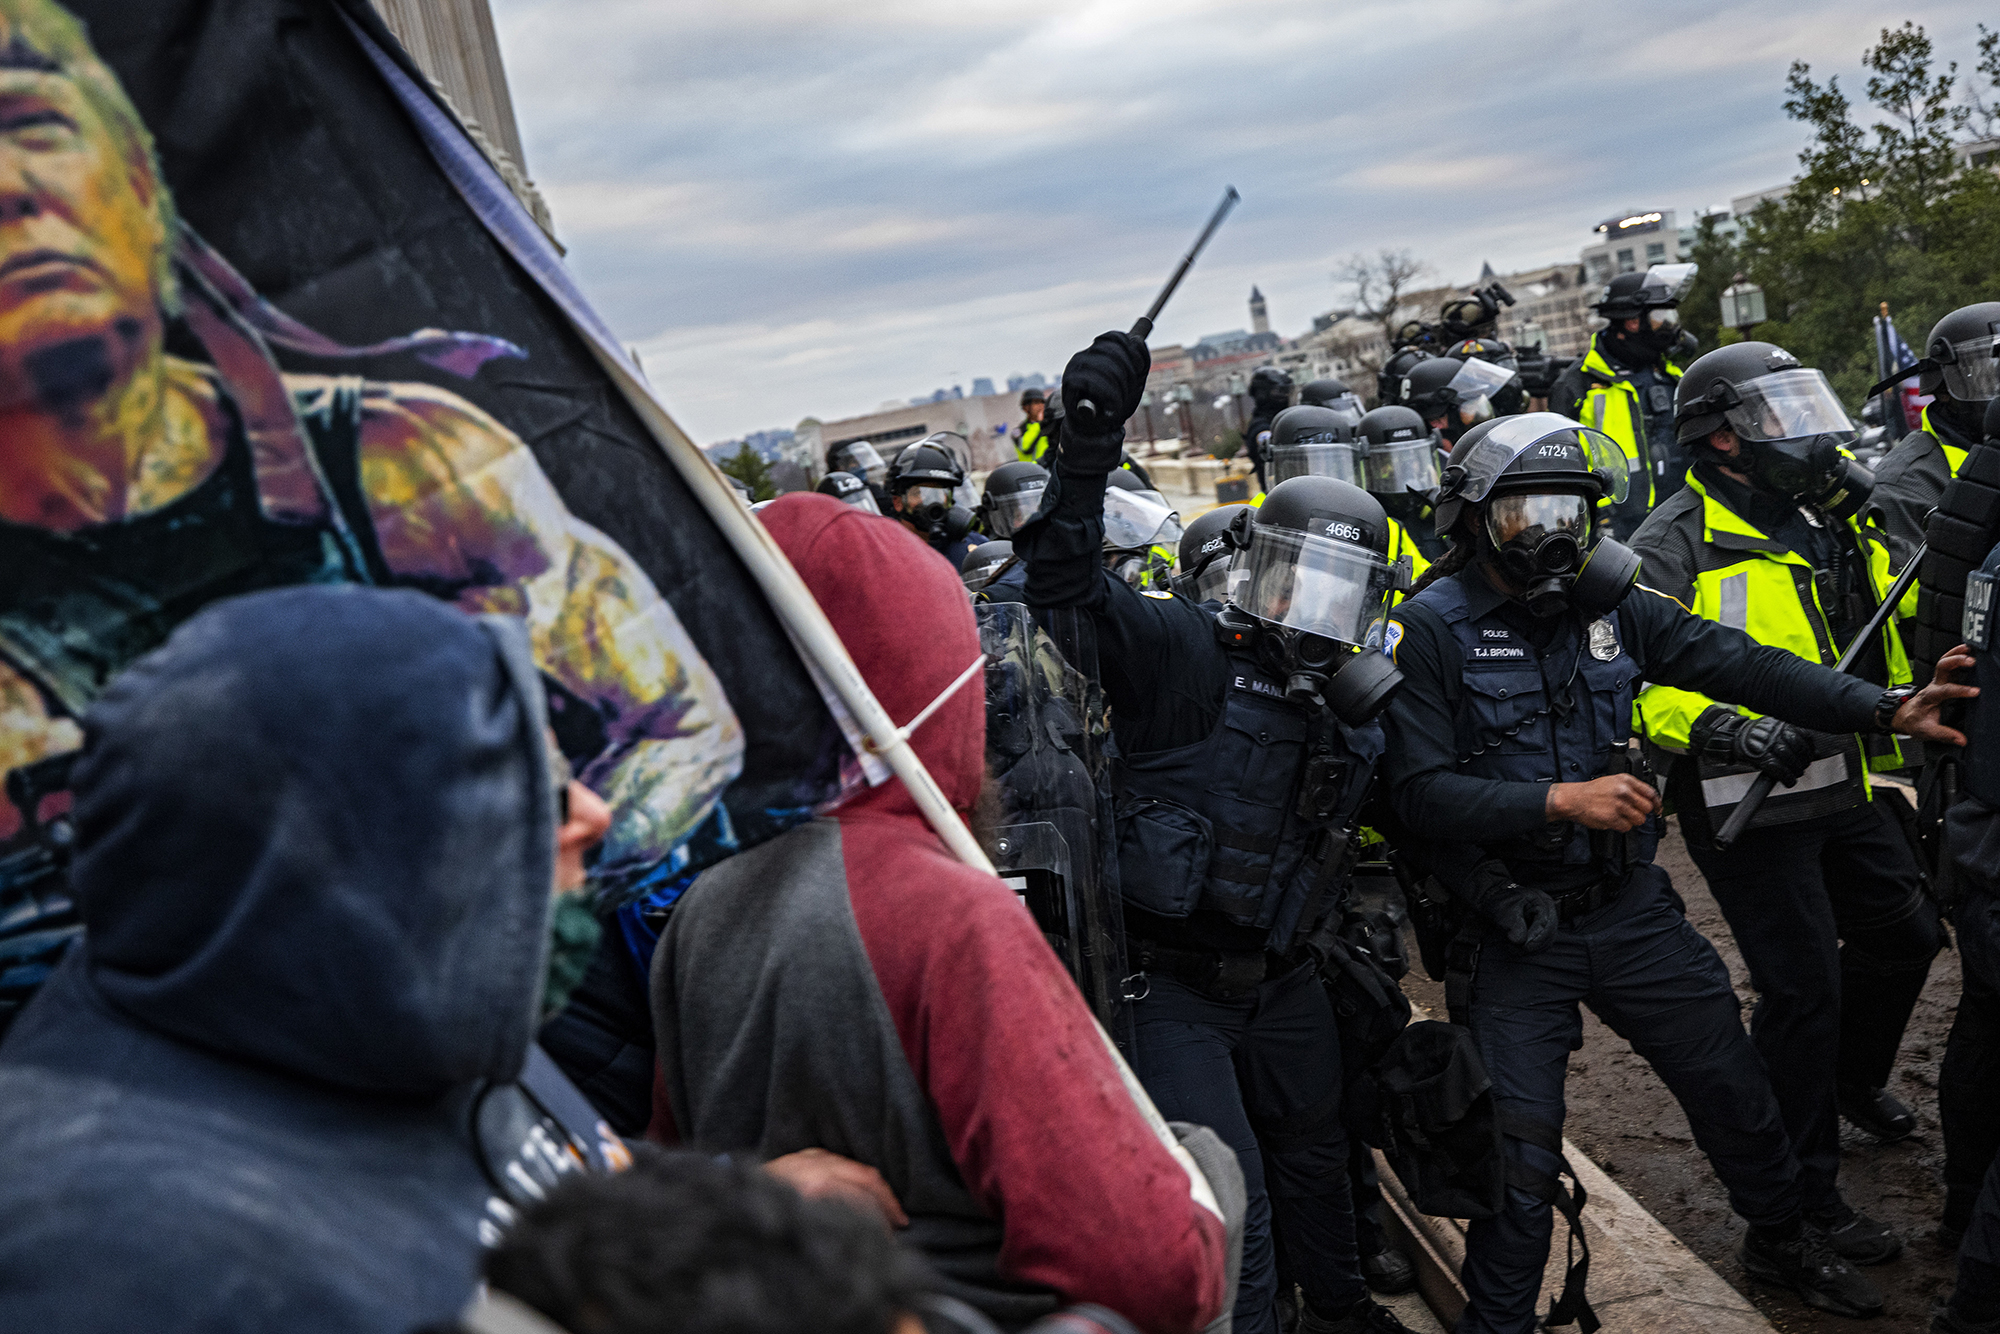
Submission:
[[1342,832],[1382,758],[1382,726],[1292,704],[1252,654],[1224,652],[1216,728],[1118,762],[1120,888],[1164,918],[1200,908],[1262,928],[1266,948],[1286,952],[1346,892]]

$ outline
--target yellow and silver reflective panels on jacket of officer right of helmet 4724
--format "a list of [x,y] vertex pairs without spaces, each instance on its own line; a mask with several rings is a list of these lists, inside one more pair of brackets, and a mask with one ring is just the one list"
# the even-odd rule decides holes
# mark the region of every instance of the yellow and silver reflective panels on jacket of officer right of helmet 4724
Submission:
[[[1888,540],[1874,526],[1844,522],[1866,554],[1868,592],[1878,604],[1894,582]],[[1834,640],[1832,618],[1820,604],[1812,562],[1710,496],[1692,470],[1686,490],[1652,512],[1632,546],[1646,562],[1646,584],[1680,598],[1704,620],[1734,626],[1760,644],[1784,648],[1824,666],[1832,666],[1846,648]],[[1910,660],[1902,636],[1896,634],[1896,616],[1884,624],[1880,648],[1886,654],[1888,684],[1908,682]],[[1650,746],[1684,756],[1688,730],[1712,704],[1716,700],[1706,694],[1656,684],[1640,692],[1636,722]],[[1738,712],[1756,716],[1746,708]],[[1868,770],[1904,766],[1892,736],[1814,732],[1812,738],[1812,766],[1794,786],[1772,790],[1752,828],[1808,820],[1872,800]],[[1756,772],[1702,762],[1698,778],[1710,818],[1720,822],[1750,790]]]

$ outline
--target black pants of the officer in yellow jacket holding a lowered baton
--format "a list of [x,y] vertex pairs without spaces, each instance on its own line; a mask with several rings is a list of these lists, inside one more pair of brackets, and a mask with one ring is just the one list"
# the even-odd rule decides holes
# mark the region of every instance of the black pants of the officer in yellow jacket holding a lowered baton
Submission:
[[1836,1084],[1882,1088],[1944,944],[1916,856],[1882,792],[1836,816],[1688,852],[1758,990],[1750,1036],[1770,1068],[1808,1210],[1840,1202]]

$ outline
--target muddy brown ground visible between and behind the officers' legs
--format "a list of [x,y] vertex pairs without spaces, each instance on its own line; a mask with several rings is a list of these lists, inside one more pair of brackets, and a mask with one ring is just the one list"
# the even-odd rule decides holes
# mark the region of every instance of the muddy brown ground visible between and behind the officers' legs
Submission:
[[[1688,860],[1680,834],[1660,844],[1660,864],[1688,904],[1688,918],[1722,952],[1748,1020],[1756,994],[1708,882]],[[1418,970],[1406,978],[1412,1000],[1444,1010],[1444,988]],[[1944,952],[1902,1040],[1890,1092],[1916,1108],[1918,1132],[1900,1144],[1876,1144],[1842,1124],[1840,1186],[1848,1202],[1896,1228],[1904,1252],[1868,1276],[1888,1296],[1884,1316],[1866,1328],[1882,1334],[1930,1328],[1930,1300],[1950,1288],[1954,1258],[1934,1232],[1944,1208],[1944,1136],[1938,1130],[1938,1062],[1958,1006],[1958,956]],[[1724,1282],[1756,1302],[1770,1322],[1792,1332],[1856,1334],[1852,1320],[1816,1312],[1790,1292],[1752,1282],[1736,1260],[1744,1224],[1728,1206],[1708,1160],[1694,1148],[1688,1118],[1652,1068],[1584,1010],[1584,1048],[1570,1056],[1570,1118],[1564,1128],[1578,1148],[1618,1180],[1668,1230],[1714,1268]],[[1560,1236],[1560,1228],[1558,1228]]]

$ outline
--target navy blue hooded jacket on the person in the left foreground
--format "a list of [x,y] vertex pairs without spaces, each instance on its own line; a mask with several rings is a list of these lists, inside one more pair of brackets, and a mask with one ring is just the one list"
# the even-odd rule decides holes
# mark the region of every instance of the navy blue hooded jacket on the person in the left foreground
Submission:
[[560,1156],[508,1084],[542,710],[516,624],[370,588],[220,602],[106,690],[86,938],[0,1046],[0,1330],[402,1334],[466,1302],[510,1158]]

